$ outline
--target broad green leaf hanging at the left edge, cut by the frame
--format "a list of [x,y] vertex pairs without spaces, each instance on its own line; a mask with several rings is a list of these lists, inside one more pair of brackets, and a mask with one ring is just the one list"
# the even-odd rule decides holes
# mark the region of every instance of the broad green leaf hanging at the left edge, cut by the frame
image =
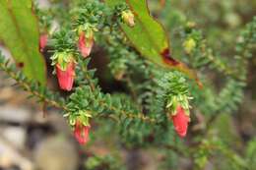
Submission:
[[0,0],[0,40],[24,74],[46,84],[45,62],[39,53],[39,31],[32,0]]

